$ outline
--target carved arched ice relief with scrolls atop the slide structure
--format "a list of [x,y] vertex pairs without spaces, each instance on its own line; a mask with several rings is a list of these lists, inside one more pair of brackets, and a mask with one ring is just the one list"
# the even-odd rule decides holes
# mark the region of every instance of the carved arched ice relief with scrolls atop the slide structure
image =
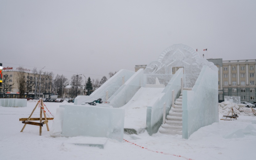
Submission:
[[184,87],[192,88],[204,65],[216,71],[217,67],[206,59],[200,58],[195,49],[184,44],[174,44],[165,49],[157,61],[147,65],[144,74],[147,83],[154,84],[158,77],[161,84],[167,84],[172,77],[172,68],[184,68]]

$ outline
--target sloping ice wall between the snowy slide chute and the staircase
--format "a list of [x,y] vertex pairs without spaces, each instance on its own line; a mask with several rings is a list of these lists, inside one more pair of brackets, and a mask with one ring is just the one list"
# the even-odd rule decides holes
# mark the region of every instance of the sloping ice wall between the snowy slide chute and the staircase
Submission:
[[180,68],[170,82],[164,88],[162,95],[153,106],[147,107],[147,132],[149,135],[156,133],[163,123],[163,105],[166,103],[166,116],[171,109],[172,90],[175,91],[175,98],[179,97],[181,92],[181,78],[183,77],[183,68]]

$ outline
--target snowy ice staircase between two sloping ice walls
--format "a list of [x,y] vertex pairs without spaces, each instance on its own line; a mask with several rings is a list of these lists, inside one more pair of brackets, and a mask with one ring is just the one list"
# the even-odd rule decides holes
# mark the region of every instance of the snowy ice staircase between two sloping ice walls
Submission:
[[[184,90],[191,90],[192,88],[184,88]],[[167,115],[165,124],[162,124],[159,128],[159,132],[169,135],[182,135],[182,93],[179,98],[174,102],[174,106],[171,107],[169,115]]]

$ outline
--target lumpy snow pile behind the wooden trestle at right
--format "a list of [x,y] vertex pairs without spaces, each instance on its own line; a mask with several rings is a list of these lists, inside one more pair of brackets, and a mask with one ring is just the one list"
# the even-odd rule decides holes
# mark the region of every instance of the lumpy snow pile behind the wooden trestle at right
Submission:
[[229,101],[219,103],[219,114],[231,115],[229,111],[233,108],[233,111],[237,115],[251,116],[254,115],[252,109],[245,107],[243,104],[235,104]]

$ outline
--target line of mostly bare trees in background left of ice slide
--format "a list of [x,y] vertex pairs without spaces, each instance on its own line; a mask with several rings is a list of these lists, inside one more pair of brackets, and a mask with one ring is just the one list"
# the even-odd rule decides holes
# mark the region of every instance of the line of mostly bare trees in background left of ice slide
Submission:
[[[114,76],[115,73],[117,72],[109,72],[109,78]],[[108,80],[106,76],[103,76],[101,80],[88,77],[84,82],[82,75],[73,75],[69,81],[63,74],[57,74],[55,76],[53,72],[42,72],[41,70],[37,70],[37,68],[34,68],[31,73],[27,73],[24,72],[22,67],[18,69],[16,82],[11,82],[10,79],[8,74],[3,75],[0,93],[4,95],[6,92],[10,92],[14,83],[17,83],[20,98],[23,98],[25,94],[29,95],[31,92],[36,93],[35,95],[37,96],[39,95],[39,90],[40,95],[43,94],[43,97],[45,95],[49,95],[50,97],[52,94],[60,95],[60,97],[64,97],[65,95],[70,98],[74,98],[77,95],[90,95]],[[68,85],[69,89],[66,92],[65,87]]]

